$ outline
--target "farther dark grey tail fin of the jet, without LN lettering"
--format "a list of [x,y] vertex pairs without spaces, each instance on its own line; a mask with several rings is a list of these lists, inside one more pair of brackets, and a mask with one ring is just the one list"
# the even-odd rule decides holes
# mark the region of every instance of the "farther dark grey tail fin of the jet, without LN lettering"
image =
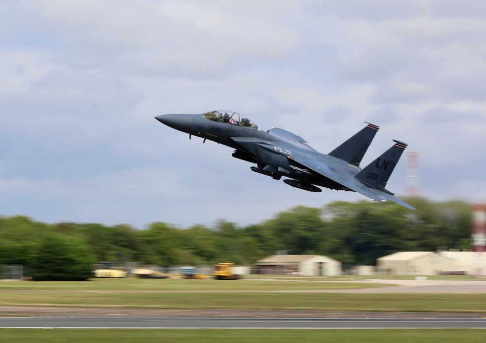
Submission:
[[359,166],[369,144],[373,141],[380,126],[365,122],[368,126],[332,150],[329,155]]

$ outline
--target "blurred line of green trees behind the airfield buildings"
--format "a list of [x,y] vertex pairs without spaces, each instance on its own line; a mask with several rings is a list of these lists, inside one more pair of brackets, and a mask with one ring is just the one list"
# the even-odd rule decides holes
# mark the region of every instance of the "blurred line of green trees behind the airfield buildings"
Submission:
[[218,219],[210,227],[181,229],[154,222],[137,230],[129,225],[0,217],[0,264],[28,266],[36,280],[77,280],[89,277],[93,263],[116,264],[121,255],[141,265],[251,265],[285,250],[327,255],[353,266],[375,265],[377,258],[399,251],[470,249],[470,204],[423,198],[407,202],[417,210],[369,201],[296,206],[244,227]]

